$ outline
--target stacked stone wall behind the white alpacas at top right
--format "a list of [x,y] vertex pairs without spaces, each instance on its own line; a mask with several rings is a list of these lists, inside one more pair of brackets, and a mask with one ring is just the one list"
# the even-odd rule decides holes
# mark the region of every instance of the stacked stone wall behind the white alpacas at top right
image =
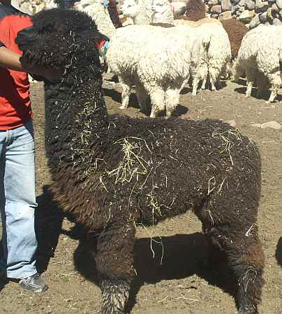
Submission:
[[205,0],[207,15],[236,17],[253,29],[258,24],[282,24],[282,0]]

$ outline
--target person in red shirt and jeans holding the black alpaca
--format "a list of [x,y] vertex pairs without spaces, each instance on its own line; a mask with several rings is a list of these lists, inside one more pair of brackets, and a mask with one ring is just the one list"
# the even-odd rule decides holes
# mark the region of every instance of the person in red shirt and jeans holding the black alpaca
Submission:
[[50,68],[22,67],[15,37],[31,25],[29,15],[13,8],[11,0],[0,0],[0,271],[25,290],[43,292],[47,284],[35,265],[34,127],[27,73],[47,80],[54,80],[57,73]]

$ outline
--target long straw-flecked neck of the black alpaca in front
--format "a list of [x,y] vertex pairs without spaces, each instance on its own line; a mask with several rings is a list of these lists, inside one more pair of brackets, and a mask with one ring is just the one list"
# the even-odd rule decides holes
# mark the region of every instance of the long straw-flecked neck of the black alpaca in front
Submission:
[[80,177],[89,174],[107,141],[107,109],[97,69],[94,63],[77,64],[60,84],[45,84],[47,156],[53,167],[64,163]]

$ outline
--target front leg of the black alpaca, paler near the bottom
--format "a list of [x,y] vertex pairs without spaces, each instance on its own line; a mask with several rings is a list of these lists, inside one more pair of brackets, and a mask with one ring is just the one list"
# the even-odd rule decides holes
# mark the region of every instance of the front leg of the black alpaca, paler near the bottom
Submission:
[[[119,214],[119,212],[118,212]],[[119,217],[121,218],[121,217]],[[121,221],[101,232],[97,241],[96,267],[101,277],[102,313],[124,313],[133,268],[135,228]]]

